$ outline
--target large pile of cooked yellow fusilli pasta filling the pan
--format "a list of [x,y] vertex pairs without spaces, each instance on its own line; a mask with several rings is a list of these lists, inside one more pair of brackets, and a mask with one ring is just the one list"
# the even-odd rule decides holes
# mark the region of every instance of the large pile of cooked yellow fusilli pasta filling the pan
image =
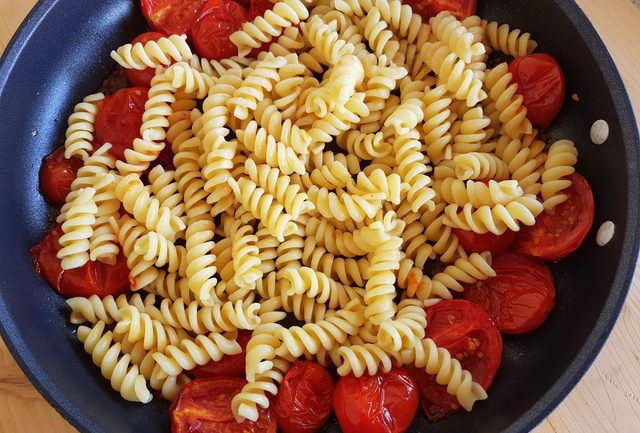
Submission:
[[[238,421],[301,357],[339,375],[415,365],[471,410],[487,394],[425,338],[423,307],[495,275],[454,229],[517,231],[566,200],[574,144],[545,151],[507,64],[487,67],[536,43],[477,16],[426,23],[400,0],[282,0],[231,40],[222,61],[184,35],[112,53],[157,68],[124,160],[92,148],[103,95],[69,119],[66,156],[84,166],[62,266],[122,251],[134,291],[67,301],[93,362],[127,400],[171,399],[251,330]],[[175,170],[145,178],[165,146]]]

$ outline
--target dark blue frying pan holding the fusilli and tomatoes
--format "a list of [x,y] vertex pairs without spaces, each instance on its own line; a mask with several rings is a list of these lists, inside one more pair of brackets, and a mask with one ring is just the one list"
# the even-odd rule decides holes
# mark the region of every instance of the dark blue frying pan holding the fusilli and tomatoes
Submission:
[[[92,365],[68,322],[64,299],[33,272],[27,253],[50,226],[38,192],[43,156],[64,140],[74,104],[114,67],[109,51],[145,29],[134,0],[43,0],[0,60],[0,331],[45,398],[82,432],[169,431],[168,403],[123,401]],[[569,393],[604,344],[625,300],[640,240],[638,131],[622,81],[595,30],[570,0],[480,0],[487,19],[530,31],[539,51],[557,57],[567,78],[565,107],[550,140],[577,143],[578,171],[596,200],[594,229],[552,270],[557,306],[538,330],[505,336],[490,397],[471,413],[435,425],[416,418],[411,432],[525,432]],[[589,128],[610,126],[596,146]],[[595,229],[613,221],[604,247]],[[337,432],[335,421],[325,432]]]

